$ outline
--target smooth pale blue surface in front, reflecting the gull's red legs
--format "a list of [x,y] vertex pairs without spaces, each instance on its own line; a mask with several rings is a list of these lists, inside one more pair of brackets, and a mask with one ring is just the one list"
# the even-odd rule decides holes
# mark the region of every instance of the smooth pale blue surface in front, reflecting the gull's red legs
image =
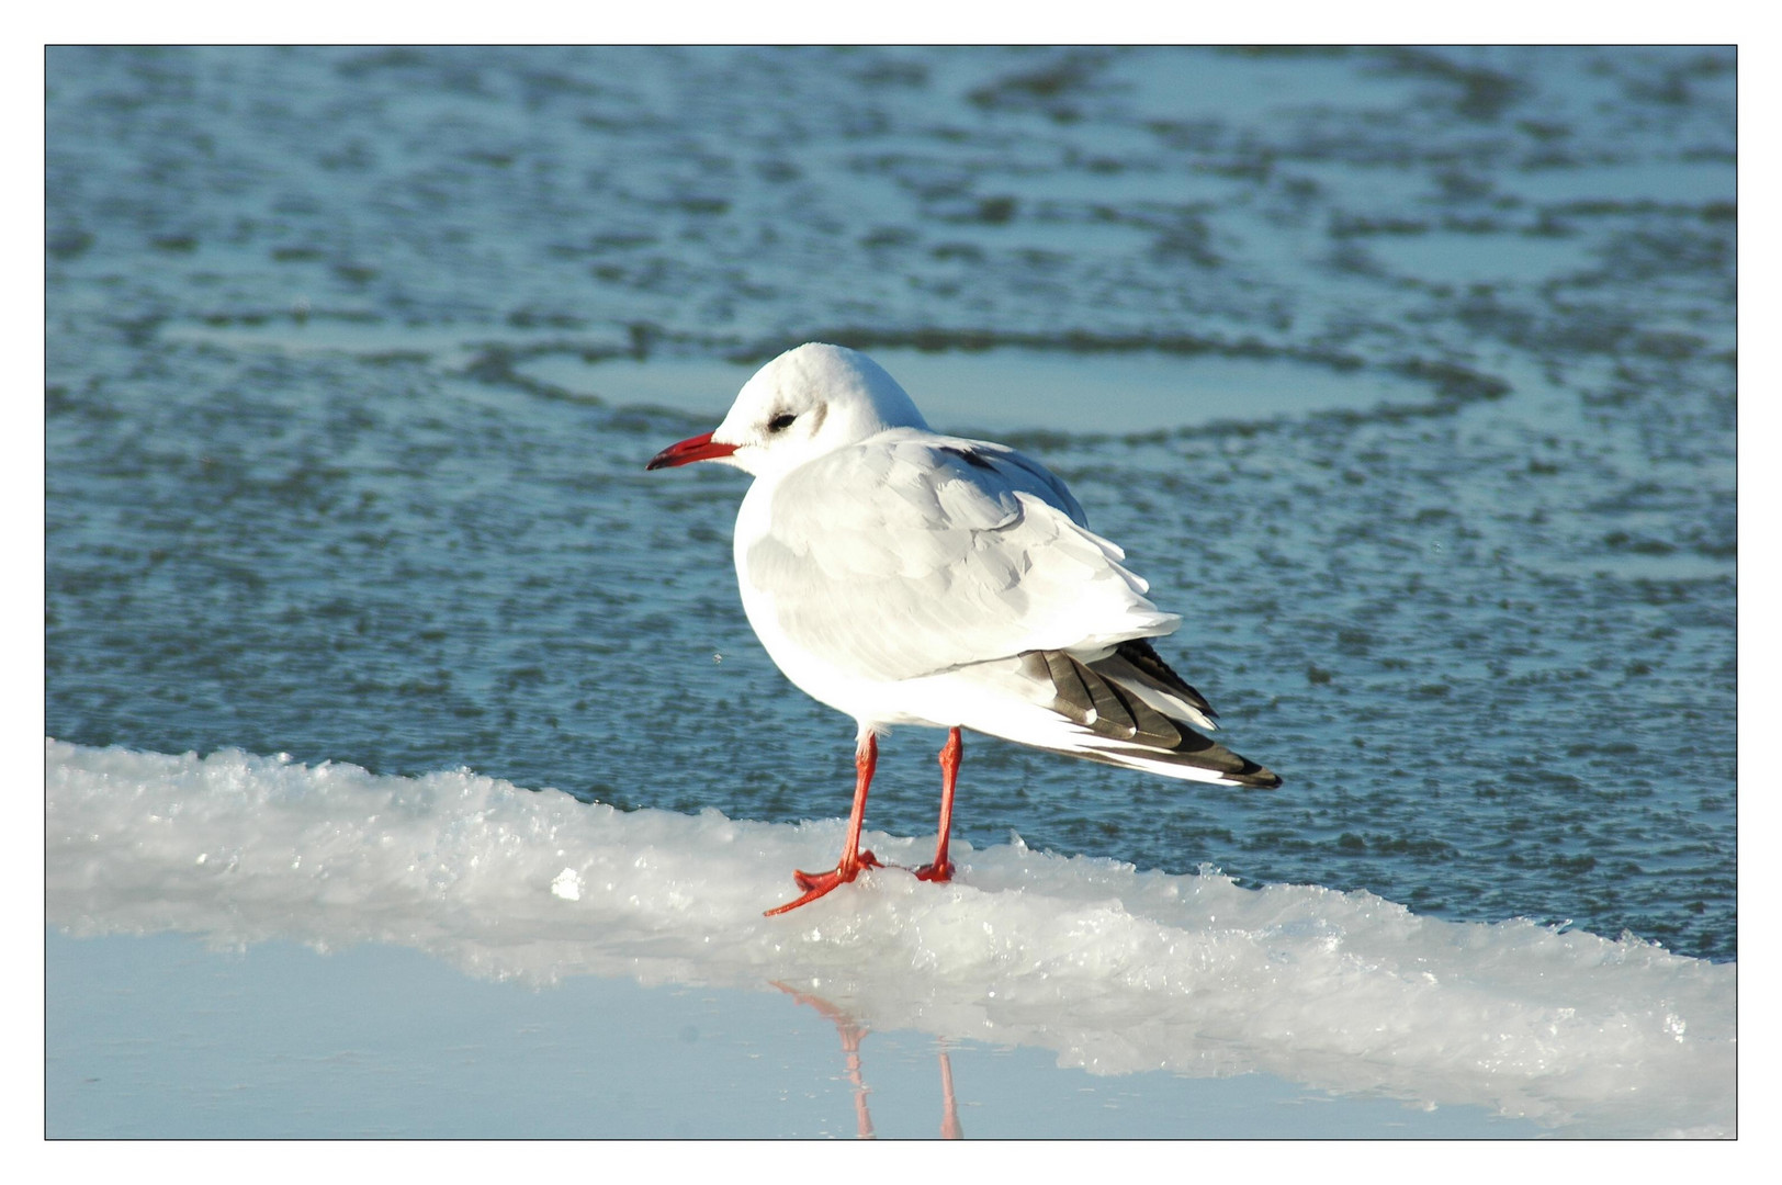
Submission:
[[1037,1046],[871,1030],[793,989],[536,989],[388,944],[52,930],[46,950],[52,1139],[1540,1133],[1274,1075],[1091,1075]]

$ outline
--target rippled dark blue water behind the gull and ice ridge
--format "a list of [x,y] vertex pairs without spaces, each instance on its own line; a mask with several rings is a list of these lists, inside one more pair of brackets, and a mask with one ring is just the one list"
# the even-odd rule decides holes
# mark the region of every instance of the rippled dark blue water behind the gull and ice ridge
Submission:
[[[642,469],[838,340],[1064,476],[1285,777],[968,740],[969,841],[1734,959],[1734,86],[1702,48],[53,48],[46,729],[841,814],[852,722],[736,599],[743,479]],[[939,740],[891,738],[875,829],[932,830]]]

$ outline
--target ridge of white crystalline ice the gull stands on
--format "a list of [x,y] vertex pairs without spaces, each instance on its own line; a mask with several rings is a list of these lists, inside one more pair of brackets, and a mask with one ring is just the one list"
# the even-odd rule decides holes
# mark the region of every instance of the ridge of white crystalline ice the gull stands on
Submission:
[[[795,914],[841,821],[624,813],[470,772],[46,741],[48,921],[431,952],[472,975],[782,984],[877,1030],[1030,1044],[1117,1075],[1276,1073],[1475,1103],[1568,1133],[1730,1135],[1737,968],[1369,893],[1242,889],[1105,859],[955,848]],[[920,862],[932,836],[868,836]]]

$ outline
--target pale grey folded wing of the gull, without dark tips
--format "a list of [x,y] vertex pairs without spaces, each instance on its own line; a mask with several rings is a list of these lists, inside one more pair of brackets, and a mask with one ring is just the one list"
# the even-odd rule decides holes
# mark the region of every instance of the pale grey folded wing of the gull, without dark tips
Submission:
[[1064,483],[1001,445],[884,437],[784,478],[745,556],[786,636],[912,679],[1034,649],[1112,649],[1178,620]]

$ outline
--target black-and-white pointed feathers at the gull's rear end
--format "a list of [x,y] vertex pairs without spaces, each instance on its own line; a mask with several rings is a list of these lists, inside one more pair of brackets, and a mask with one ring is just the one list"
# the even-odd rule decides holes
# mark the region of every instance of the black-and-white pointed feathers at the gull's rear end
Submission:
[[1165,715],[1176,709],[1203,727],[1214,727],[1208,720],[1212,706],[1199,691],[1169,670],[1149,645],[1132,654],[1126,645],[1089,665],[1064,650],[1028,650],[1021,656],[1023,674],[1051,684],[1053,711],[1089,734],[1082,748],[1069,752],[1169,777],[1263,789],[1281,784],[1271,770],[1196,732],[1185,720]]

